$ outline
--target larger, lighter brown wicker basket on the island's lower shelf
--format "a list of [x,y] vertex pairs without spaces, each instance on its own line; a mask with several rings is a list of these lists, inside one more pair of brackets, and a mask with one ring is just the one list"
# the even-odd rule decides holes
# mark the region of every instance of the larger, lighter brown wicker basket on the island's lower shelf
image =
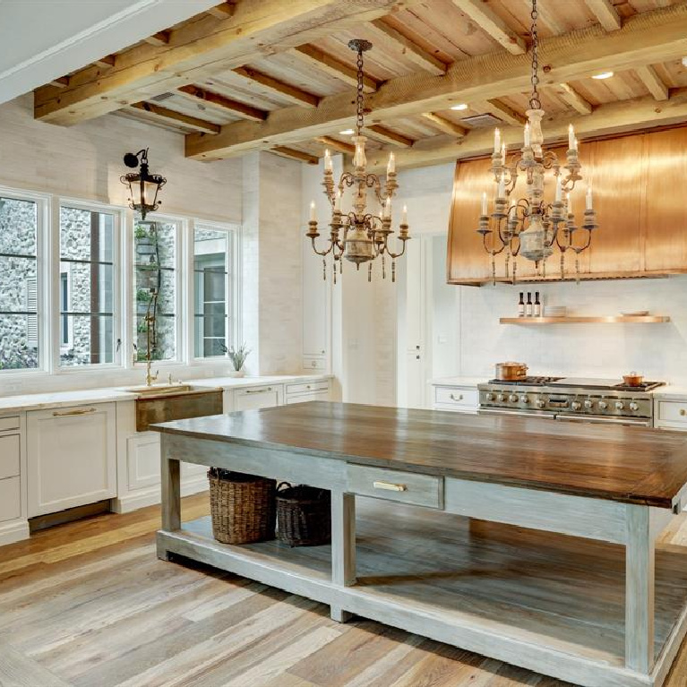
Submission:
[[273,479],[210,468],[212,534],[223,544],[274,539]]

